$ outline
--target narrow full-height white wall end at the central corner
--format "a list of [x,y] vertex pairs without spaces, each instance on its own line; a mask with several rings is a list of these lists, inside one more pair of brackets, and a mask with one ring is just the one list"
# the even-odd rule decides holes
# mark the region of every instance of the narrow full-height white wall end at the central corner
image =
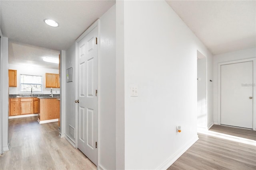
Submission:
[[124,1],[116,1],[116,169],[124,167]]

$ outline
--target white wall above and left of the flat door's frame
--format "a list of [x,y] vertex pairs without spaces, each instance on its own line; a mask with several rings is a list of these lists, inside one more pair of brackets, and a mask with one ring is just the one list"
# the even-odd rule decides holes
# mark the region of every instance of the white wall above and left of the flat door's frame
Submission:
[[219,55],[214,55],[213,57],[213,72],[214,72],[214,123],[218,124],[218,63],[223,63],[227,61],[236,61],[242,59],[251,59],[256,57],[256,48],[244,49],[239,51],[233,51],[230,53],[223,53]]

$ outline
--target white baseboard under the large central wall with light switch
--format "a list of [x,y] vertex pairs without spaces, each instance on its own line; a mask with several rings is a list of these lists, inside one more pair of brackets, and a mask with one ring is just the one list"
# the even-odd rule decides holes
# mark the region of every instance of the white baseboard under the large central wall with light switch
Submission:
[[194,137],[194,139],[190,140],[186,145],[184,145],[181,149],[175,152],[168,160],[166,160],[162,165],[158,166],[158,170],[166,170],[169,168],[182,154],[186,152],[196,141],[198,140],[198,135]]

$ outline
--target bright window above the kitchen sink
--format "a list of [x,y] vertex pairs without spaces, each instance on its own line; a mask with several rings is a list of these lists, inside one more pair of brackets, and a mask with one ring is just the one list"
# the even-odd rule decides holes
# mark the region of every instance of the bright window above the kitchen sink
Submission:
[[20,92],[42,92],[42,76],[20,74]]

